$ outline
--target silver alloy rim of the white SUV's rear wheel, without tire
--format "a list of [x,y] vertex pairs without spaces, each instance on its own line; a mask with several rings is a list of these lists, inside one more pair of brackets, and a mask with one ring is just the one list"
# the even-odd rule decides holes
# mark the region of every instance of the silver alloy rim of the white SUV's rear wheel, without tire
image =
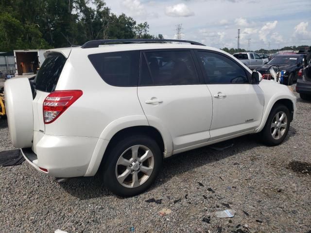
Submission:
[[125,150],[118,159],[116,165],[117,180],[124,187],[138,187],[149,179],[154,165],[154,155],[148,147],[132,146]]

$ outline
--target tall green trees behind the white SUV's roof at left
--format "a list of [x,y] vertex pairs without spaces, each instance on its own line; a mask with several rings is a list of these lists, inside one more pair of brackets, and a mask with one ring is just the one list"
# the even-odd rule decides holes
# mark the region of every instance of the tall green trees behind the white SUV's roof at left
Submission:
[[0,51],[50,49],[89,40],[159,38],[147,22],[117,16],[104,0],[0,0]]

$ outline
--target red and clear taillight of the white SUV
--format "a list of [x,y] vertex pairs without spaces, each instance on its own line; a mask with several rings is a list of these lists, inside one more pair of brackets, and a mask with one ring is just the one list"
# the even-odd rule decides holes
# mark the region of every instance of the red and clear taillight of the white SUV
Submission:
[[50,124],[82,96],[81,90],[54,91],[43,102],[43,120]]

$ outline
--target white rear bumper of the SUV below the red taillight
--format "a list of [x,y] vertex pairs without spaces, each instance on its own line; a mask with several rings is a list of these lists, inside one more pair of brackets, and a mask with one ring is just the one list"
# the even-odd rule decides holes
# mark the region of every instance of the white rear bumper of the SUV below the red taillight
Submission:
[[54,136],[35,132],[33,148],[21,151],[27,162],[44,174],[62,178],[78,177],[86,174],[97,142],[98,138],[92,137]]

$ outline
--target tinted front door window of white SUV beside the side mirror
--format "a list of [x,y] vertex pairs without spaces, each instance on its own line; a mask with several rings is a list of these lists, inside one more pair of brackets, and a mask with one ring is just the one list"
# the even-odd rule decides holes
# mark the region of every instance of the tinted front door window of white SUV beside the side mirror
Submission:
[[249,83],[245,70],[225,55],[199,51],[206,83]]

